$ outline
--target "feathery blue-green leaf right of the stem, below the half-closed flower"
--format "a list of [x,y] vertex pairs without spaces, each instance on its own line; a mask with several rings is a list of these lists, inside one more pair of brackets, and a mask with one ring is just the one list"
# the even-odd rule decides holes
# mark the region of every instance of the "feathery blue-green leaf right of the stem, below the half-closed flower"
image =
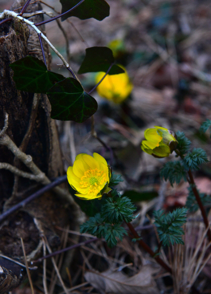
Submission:
[[198,170],[198,166],[202,163],[207,163],[206,152],[202,148],[194,148],[183,159],[184,168],[186,170]]

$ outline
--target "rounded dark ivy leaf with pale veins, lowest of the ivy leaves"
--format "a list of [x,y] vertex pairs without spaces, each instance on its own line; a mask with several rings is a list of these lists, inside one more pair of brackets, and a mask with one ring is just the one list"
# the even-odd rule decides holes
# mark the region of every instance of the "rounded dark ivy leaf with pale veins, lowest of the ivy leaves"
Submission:
[[52,119],[82,123],[97,110],[96,100],[84,92],[81,84],[67,78],[52,86],[47,92]]

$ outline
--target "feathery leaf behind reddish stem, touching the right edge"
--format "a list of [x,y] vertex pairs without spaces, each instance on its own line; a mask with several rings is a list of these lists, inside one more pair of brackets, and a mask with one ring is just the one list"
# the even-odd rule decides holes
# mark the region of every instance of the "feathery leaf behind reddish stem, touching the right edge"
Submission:
[[[186,207],[188,208],[188,210],[190,212],[195,212],[198,210],[198,203],[195,199],[195,195],[193,193],[192,190],[192,185],[190,185],[190,187],[188,187],[189,193],[188,193],[188,197],[187,197],[187,201],[186,201]],[[203,206],[211,206],[211,196],[204,194],[204,193],[198,193],[200,198],[201,198],[201,202],[203,204]]]

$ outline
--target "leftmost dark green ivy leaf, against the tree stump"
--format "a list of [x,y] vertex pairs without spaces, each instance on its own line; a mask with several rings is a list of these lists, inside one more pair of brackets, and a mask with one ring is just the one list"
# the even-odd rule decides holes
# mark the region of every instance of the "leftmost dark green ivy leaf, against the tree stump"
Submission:
[[47,70],[44,62],[33,56],[26,56],[10,64],[14,70],[13,80],[18,90],[32,93],[46,93],[65,77]]

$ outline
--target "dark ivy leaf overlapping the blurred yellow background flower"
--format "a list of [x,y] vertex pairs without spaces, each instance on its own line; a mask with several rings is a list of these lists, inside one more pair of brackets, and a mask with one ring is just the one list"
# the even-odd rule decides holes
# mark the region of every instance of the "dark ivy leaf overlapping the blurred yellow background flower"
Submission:
[[[86,56],[78,70],[78,73],[104,71],[107,72],[110,65],[114,63],[113,52],[108,47],[90,47],[86,49]],[[114,64],[109,75],[118,75],[125,72],[120,66]]]

